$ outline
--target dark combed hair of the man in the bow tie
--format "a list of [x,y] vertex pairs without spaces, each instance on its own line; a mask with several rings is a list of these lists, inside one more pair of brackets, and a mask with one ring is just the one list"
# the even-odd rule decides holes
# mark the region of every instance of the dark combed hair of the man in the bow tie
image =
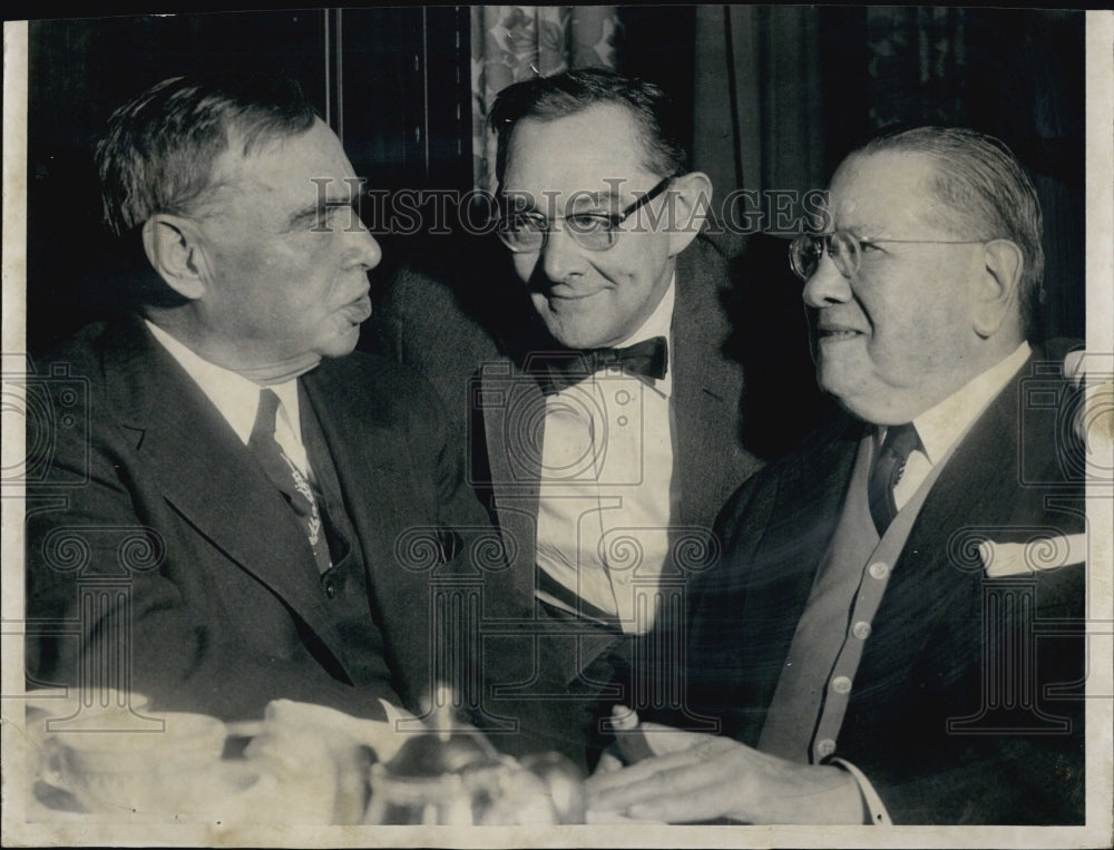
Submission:
[[[535,118],[549,121],[597,104],[625,107],[637,121],[647,170],[661,177],[688,170],[688,155],[681,141],[680,116],[662,89],[606,68],[579,68],[553,77],[516,82],[496,97],[488,113],[488,123],[498,140],[495,173],[499,184],[502,184],[507,170],[510,136],[520,120]],[[585,144],[592,143],[586,140]]]

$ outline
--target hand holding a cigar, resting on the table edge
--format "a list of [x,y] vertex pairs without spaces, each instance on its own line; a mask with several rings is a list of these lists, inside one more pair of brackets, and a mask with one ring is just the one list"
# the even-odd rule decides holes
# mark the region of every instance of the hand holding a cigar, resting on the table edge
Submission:
[[592,812],[668,823],[863,822],[859,787],[838,768],[798,764],[719,735],[642,729],[656,754],[592,776]]

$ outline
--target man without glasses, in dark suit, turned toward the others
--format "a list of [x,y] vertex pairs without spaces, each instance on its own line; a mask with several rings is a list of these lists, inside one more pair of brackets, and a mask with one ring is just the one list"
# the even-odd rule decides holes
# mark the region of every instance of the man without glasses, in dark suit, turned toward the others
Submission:
[[[277,697],[422,714],[444,682],[494,721],[468,685],[477,624],[434,619],[434,596],[520,612],[472,557],[490,526],[433,390],[350,353],[380,248],[336,136],[291,81],[173,78],[97,159],[108,225],[157,277],[40,364],[29,685],[234,720]],[[505,662],[486,674],[520,677],[485,646]]]

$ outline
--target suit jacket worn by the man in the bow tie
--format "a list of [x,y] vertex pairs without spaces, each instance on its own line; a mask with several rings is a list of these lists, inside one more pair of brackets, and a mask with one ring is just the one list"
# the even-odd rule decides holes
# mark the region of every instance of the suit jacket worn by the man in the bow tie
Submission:
[[[497,257],[479,262],[500,268]],[[543,433],[531,422],[545,401],[524,367],[532,352],[559,346],[521,283],[498,274],[439,277],[411,272],[395,281],[380,316],[387,345],[438,388],[466,433],[468,479],[499,527],[519,593],[532,595]],[[742,442],[743,368],[724,351],[727,284],[726,261],[709,240],[678,256],[668,368],[680,516],[672,525],[688,529],[696,567],[716,551],[710,533],[720,507],[761,466]]]

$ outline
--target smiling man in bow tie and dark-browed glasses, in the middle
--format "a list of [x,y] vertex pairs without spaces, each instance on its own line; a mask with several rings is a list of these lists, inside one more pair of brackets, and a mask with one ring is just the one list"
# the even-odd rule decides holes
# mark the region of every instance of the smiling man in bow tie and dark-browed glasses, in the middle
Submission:
[[458,411],[516,579],[560,633],[571,690],[592,694],[634,636],[667,636],[647,663],[680,662],[712,520],[760,466],[724,353],[726,263],[697,235],[711,185],[655,86],[569,71],[508,87],[489,119],[519,280],[505,287],[496,262],[465,263],[457,292],[403,274],[382,316],[395,354]]

